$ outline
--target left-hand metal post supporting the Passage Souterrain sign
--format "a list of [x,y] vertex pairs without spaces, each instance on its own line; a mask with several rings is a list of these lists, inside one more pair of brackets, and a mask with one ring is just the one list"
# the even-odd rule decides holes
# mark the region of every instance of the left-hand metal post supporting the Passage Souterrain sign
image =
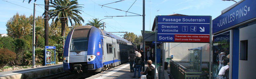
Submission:
[[157,16],[155,16],[155,78],[156,79],[156,42],[157,42]]

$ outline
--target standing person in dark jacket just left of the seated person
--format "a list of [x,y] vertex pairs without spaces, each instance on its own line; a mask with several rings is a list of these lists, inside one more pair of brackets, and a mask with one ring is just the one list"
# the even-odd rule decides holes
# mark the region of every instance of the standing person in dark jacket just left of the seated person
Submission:
[[134,75],[133,75],[133,78],[135,78],[136,77],[136,70],[138,69],[138,78],[140,78],[140,76],[141,76],[141,74],[140,74],[140,72],[141,72],[141,70],[140,70],[140,68],[141,68],[141,63],[142,63],[142,59],[141,59],[141,53],[137,53],[136,54],[136,59],[135,59],[135,72],[134,72]]

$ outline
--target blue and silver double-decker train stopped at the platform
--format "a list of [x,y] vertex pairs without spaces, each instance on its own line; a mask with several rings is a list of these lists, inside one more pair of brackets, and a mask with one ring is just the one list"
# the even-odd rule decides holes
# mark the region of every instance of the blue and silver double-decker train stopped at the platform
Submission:
[[67,35],[64,45],[64,71],[101,72],[128,62],[136,46],[94,26],[79,26]]

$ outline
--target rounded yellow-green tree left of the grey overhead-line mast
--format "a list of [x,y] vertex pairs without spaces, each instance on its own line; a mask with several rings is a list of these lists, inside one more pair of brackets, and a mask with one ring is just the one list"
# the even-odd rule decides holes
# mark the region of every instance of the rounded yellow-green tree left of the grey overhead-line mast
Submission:
[[6,27],[8,36],[13,38],[21,38],[29,34],[31,29],[29,19],[25,15],[19,15],[19,13],[16,13],[16,15],[7,21]]

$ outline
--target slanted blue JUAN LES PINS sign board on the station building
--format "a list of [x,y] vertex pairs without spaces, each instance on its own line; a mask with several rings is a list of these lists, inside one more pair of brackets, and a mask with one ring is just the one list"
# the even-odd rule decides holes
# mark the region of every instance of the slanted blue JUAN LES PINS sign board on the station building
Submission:
[[233,9],[218,16],[212,21],[212,33],[229,28],[256,17],[256,0],[244,0]]

